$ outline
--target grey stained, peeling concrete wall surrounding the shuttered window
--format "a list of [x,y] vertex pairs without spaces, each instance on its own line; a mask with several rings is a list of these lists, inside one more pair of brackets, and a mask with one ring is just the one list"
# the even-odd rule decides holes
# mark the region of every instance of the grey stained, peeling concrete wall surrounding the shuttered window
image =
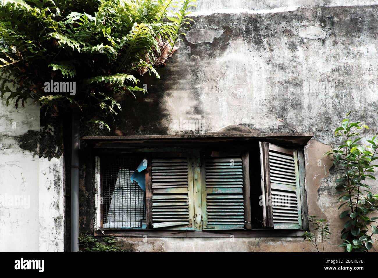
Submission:
[[[313,132],[305,149],[308,210],[331,224],[325,249],[342,251],[336,175],[323,154],[337,143],[332,130],[349,110],[351,118],[372,127],[364,136],[378,131],[378,6],[366,6],[373,4],[202,0],[195,25],[159,69],[161,79],[142,79],[149,94],[123,103],[110,134],[203,133],[231,124],[260,132]],[[189,120],[200,127],[183,124]],[[106,134],[97,127],[87,132]],[[82,230],[91,224],[82,223]],[[314,251],[302,238],[232,240],[119,238],[118,244],[157,252]]]

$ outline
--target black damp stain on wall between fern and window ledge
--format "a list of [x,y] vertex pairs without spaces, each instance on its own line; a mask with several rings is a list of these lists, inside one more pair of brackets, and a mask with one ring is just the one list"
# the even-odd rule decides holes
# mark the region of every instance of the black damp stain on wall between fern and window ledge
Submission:
[[[170,65],[174,67],[174,65]],[[114,96],[121,104],[122,110],[118,115],[106,116],[104,111],[98,107],[87,109],[81,122],[81,136],[112,136],[112,135],[149,135],[167,134],[169,114],[166,111],[164,98],[169,96],[165,93],[168,90],[166,84],[167,75],[170,75],[166,68],[158,69],[161,79],[145,76],[138,76],[140,79],[139,87],[147,88],[148,93],[138,93],[134,96]],[[95,120],[104,121],[110,127]]]

